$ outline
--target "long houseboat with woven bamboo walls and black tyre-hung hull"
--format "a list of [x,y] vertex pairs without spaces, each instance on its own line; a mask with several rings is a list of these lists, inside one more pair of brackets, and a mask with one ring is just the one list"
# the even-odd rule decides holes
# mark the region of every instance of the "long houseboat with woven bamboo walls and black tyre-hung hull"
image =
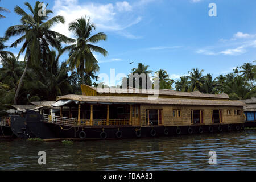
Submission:
[[[241,101],[227,94],[159,90],[101,93],[81,85],[82,95],[57,97],[39,113],[27,110],[26,125],[43,139],[110,139],[201,134],[244,129]],[[40,106],[40,105],[38,105]],[[56,109],[58,108],[58,109]]]

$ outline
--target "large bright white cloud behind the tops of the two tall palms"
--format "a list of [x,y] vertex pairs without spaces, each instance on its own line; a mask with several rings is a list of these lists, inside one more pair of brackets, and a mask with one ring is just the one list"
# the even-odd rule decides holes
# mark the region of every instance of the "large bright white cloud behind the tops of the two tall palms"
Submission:
[[129,19],[122,19],[123,16],[127,16],[127,11],[133,10],[133,6],[126,1],[104,4],[79,3],[77,0],[55,0],[53,9],[57,15],[65,18],[65,24],[57,24],[53,30],[69,37],[73,37],[72,32],[68,31],[69,23],[85,15],[96,24],[97,31],[113,31],[127,38],[136,38],[136,36],[123,31],[142,20],[141,16],[136,17],[134,14],[131,14]]

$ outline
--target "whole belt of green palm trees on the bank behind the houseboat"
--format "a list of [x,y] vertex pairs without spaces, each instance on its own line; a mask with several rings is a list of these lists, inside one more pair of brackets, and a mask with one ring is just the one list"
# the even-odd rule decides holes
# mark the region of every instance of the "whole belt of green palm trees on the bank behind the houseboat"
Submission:
[[[97,86],[97,72],[100,70],[98,61],[93,52],[104,56],[108,52],[94,45],[107,36],[103,32],[92,35],[96,26],[90,22],[89,17],[81,17],[69,24],[69,31],[75,39],[68,38],[51,27],[57,23],[64,23],[63,16],[54,16],[51,10],[46,10],[46,16],[38,15],[38,4],[34,7],[26,2],[28,11],[19,6],[14,8],[20,16],[20,24],[7,28],[4,35],[0,35],[0,115],[12,104],[26,105],[31,101],[53,101],[56,96],[64,94],[81,94],[80,85]],[[10,11],[0,7],[0,23],[3,13]],[[17,37],[11,45],[6,41]],[[20,44],[18,56],[8,51]],[[63,46],[65,45],[65,46]],[[60,56],[68,52],[67,60],[59,60]],[[24,54],[24,60],[18,61]],[[172,80],[163,69],[159,69],[159,89],[170,89],[182,92],[200,91],[201,93],[226,93],[231,100],[241,100],[256,97],[256,66],[255,61],[238,65],[232,73],[219,75],[204,75],[203,69],[193,68],[187,75],[178,80]],[[138,64],[131,73],[154,73],[148,65]],[[150,78],[151,79],[151,78]],[[151,81],[154,86],[154,77]],[[96,81],[96,82],[92,82]]]

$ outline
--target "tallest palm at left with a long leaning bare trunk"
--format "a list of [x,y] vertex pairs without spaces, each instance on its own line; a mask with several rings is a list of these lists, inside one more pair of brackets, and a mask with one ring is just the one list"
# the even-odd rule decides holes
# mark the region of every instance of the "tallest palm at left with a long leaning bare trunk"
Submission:
[[47,20],[48,14],[53,13],[48,9],[46,10],[46,16],[39,16],[39,3],[39,1],[35,3],[34,9],[30,3],[24,3],[24,5],[26,5],[30,11],[31,15],[27,14],[26,11],[24,11],[19,6],[16,6],[14,11],[16,14],[22,16],[22,24],[11,26],[5,32],[7,38],[10,38],[11,36],[22,35],[11,45],[11,47],[16,47],[19,43],[24,42],[18,53],[17,59],[23,52],[25,52],[24,61],[27,61],[15,93],[14,104],[16,104],[18,100],[18,94],[22,85],[23,78],[27,72],[28,65],[36,66],[40,64],[41,60],[45,60],[47,53],[50,52],[49,46],[59,50],[61,49],[61,42],[71,43],[75,41],[65,37],[62,34],[50,30],[54,24],[64,23],[65,20],[63,16],[54,16],[53,18]]

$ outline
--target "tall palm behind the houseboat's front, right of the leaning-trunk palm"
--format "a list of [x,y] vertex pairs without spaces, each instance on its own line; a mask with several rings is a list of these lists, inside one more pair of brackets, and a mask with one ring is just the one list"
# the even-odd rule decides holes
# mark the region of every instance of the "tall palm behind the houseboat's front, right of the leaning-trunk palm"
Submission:
[[91,36],[93,29],[96,29],[95,25],[90,22],[90,18],[86,20],[86,16],[71,22],[68,30],[75,34],[76,43],[64,47],[60,52],[61,55],[64,51],[69,51],[67,63],[71,70],[76,69],[77,73],[80,74],[82,84],[84,84],[85,71],[90,72],[90,68],[93,68],[93,71],[99,70],[98,61],[92,51],[101,53],[104,56],[108,55],[105,49],[93,45],[93,43],[97,43],[100,40],[106,40],[106,34],[100,32]]

